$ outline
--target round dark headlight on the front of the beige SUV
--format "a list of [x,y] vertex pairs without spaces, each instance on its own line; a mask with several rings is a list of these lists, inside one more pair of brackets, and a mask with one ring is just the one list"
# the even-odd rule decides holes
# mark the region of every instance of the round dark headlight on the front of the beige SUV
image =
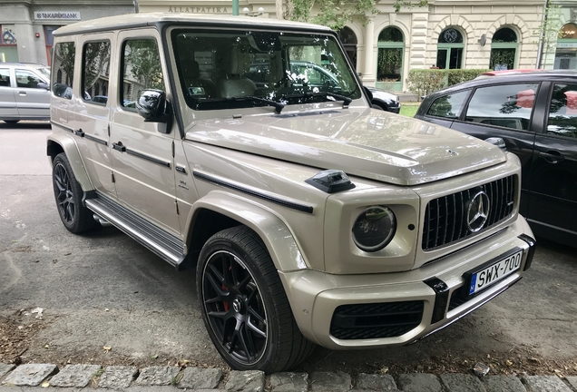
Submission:
[[373,206],[361,213],[353,225],[353,240],[361,250],[382,250],[393,240],[396,218],[391,209]]

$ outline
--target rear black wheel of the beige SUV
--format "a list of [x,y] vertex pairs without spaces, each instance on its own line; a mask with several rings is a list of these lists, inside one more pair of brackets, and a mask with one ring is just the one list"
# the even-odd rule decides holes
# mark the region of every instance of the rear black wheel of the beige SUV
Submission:
[[72,166],[64,152],[54,158],[52,181],[56,207],[64,227],[76,234],[98,227],[98,222],[93,219],[93,213],[83,206],[83,190],[76,181]]

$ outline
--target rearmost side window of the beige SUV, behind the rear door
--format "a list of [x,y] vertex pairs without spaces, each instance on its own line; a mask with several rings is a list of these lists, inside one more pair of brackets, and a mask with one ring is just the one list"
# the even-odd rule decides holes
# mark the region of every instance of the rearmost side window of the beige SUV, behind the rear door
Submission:
[[52,93],[57,97],[72,99],[75,57],[74,43],[58,43],[54,46],[51,77]]

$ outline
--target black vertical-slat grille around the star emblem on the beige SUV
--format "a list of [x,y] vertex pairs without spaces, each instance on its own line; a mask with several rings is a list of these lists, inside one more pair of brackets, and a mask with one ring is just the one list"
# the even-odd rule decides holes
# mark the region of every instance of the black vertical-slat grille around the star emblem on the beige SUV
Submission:
[[484,191],[489,200],[489,214],[483,230],[506,219],[514,209],[515,186],[512,175],[429,201],[423,223],[423,250],[432,250],[474,234],[467,227],[467,210],[479,191]]

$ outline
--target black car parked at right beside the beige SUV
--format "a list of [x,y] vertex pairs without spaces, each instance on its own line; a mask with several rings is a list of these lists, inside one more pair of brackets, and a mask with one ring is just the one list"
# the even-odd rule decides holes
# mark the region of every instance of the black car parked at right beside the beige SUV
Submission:
[[504,71],[432,93],[416,118],[501,137],[523,164],[521,213],[537,236],[577,240],[577,72]]

